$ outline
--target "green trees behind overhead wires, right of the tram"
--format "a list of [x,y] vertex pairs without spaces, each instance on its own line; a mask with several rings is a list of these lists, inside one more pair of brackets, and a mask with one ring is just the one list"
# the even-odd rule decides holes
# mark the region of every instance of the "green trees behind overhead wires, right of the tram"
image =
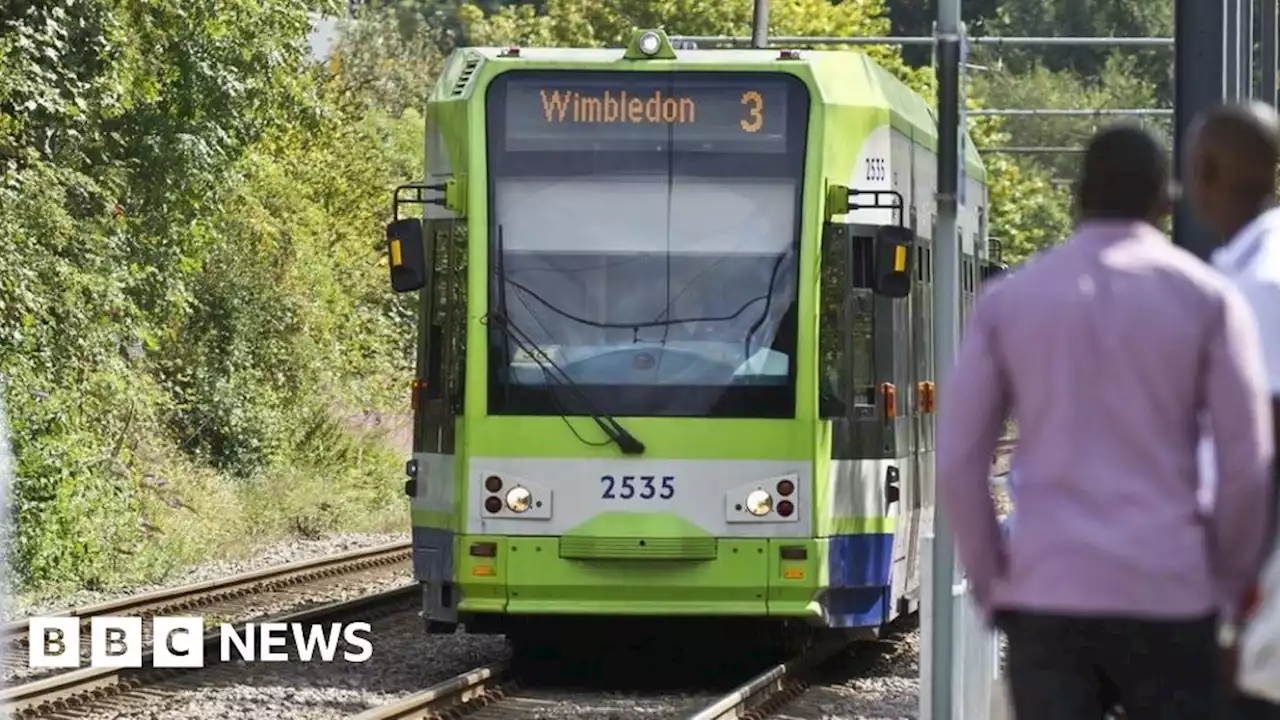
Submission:
[[[895,35],[929,35],[936,8],[914,0],[888,0]],[[1166,0],[1016,0],[964,3],[972,35],[1169,37],[1172,4]],[[914,64],[927,64],[927,49],[908,49]],[[1169,108],[1172,104],[1172,50],[1028,46],[975,46],[970,96],[988,108]],[[1073,147],[1116,118],[1005,118],[970,123],[980,137],[992,177],[992,234],[1006,240],[1014,260],[1065,237],[1069,183],[1076,154],[992,152],[998,146]],[[1169,136],[1167,122],[1147,120]],[[1011,241],[1011,242],[1010,242]]]

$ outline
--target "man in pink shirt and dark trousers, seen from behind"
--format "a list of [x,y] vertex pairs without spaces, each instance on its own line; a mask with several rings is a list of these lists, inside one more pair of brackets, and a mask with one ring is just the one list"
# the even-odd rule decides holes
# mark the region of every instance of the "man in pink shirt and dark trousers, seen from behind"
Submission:
[[[938,502],[980,611],[1009,639],[1021,720],[1210,717],[1217,621],[1257,577],[1274,452],[1257,324],[1238,290],[1156,229],[1160,142],[1100,132],[1061,246],[995,281],[943,387]],[[989,457],[1018,420],[1018,525]],[[1219,483],[1197,497],[1201,419]]]

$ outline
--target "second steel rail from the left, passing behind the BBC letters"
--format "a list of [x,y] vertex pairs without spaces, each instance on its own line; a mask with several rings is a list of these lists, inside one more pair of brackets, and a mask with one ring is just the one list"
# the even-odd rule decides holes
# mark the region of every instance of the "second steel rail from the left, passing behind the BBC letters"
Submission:
[[[389,606],[407,600],[417,600],[420,592],[416,584],[402,585],[390,591],[332,602],[320,607],[289,612],[275,618],[265,618],[237,623],[238,633],[248,624],[264,623],[306,623],[330,621],[352,614],[367,612],[371,609]],[[205,633],[205,666],[220,665],[219,650],[221,632]],[[214,660],[210,661],[209,659]],[[164,679],[182,673],[200,671],[201,667],[154,667],[154,651],[142,652],[141,667],[84,667],[0,689],[0,711],[10,717],[32,717],[45,712],[61,711],[72,705],[96,701],[104,696],[129,691],[151,679]]]

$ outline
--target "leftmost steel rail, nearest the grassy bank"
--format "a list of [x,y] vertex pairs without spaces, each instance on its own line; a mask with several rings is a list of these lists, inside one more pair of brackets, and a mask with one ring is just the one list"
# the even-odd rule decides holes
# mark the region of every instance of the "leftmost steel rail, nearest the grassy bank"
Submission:
[[[306,582],[337,574],[390,565],[410,559],[410,541],[393,542],[375,547],[352,550],[339,555],[301,560],[283,565],[273,565],[251,573],[229,578],[218,578],[186,585],[163,588],[154,592],[134,594],[119,600],[86,605],[54,612],[42,612],[41,618],[81,618],[88,620],[101,615],[146,615],[157,610],[191,610],[212,605],[228,597],[246,594],[262,587],[275,587]],[[355,568],[352,568],[355,565]],[[9,642],[22,641],[27,635],[31,618],[13,620],[0,625],[0,638]]]

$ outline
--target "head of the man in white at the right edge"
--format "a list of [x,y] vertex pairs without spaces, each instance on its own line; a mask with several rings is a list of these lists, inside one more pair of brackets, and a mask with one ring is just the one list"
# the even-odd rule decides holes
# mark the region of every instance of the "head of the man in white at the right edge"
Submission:
[[1188,190],[1196,213],[1230,240],[1275,202],[1280,117],[1263,102],[1221,105],[1190,128]]

